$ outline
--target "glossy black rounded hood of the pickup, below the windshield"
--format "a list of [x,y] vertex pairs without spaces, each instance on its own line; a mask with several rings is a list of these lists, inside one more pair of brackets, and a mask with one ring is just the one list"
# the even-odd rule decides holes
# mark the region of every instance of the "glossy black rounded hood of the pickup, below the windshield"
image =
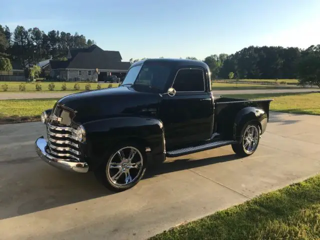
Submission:
[[70,94],[59,99],[52,114],[59,124],[79,125],[107,117],[155,115],[160,95],[120,86]]

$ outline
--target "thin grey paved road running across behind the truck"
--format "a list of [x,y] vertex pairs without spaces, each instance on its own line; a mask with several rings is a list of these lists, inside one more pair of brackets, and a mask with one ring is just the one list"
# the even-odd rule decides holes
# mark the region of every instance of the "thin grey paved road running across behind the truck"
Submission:
[[[296,89],[251,89],[251,90],[217,90],[214,95],[225,94],[254,94],[254,93],[277,93],[277,92],[312,92],[320,91],[319,88],[296,88]],[[0,100],[4,99],[30,99],[30,98],[60,98],[68,95],[70,92],[1,92]]]

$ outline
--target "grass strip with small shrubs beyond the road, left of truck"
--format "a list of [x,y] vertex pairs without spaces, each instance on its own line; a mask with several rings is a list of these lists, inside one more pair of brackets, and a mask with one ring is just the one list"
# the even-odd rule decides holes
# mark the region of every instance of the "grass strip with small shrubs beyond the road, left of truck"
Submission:
[[[11,91],[19,91],[19,85],[21,84],[21,83],[23,83],[23,84],[25,84],[25,91],[36,91],[36,89],[35,89],[35,83],[32,83],[32,82],[17,82],[17,81],[15,81],[15,82],[12,82],[12,81],[6,81],[6,82],[4,82],[4,81],[1,81],[0,82],[0,91],[2,91],[3,92],[3,89],[2,89],[2,87],[1,87],[1,85],[3,85],[3,84],[7,84],[8,85],[8,89],[7,89],[7,91],[9,92],[11,92]],[[40,84],[41,84],[41,86],[42,86],[42,91],[44,91],[44,92],[48,92],[49,91],[49,89],[48,89],[48,85],[49,85],[49,83],[51,83],[51,82],[48,82],[48,81],[45,81],[45,82],[39,82]],[[54,92],[55,91],[61,91],[61,86],[62,86],[62,84],[64,83],[64,82],[53,82],[54,83],[54,85],[55,85],[55,87],[54,87]],[[84,88],[84,86],[85,86],[85,84],[87,84],[87,82],[78,82],[79,83],[79,85],[80,85],[80,90],[84,90],[85,88]],[[74,91],[74,88],[73,88],[73,86],[74,86],[74,84],[75,84],[75,82],[65,82],[65,84],[66,84],[66,90],[72,90],[72,91]],[[91,89],[96,89],[96,86],[97,86],[97,84],[98,83],[92,83],[92,82],[90,82],[90,85],[91,85]],[[107,88],[108,87],[108,85],[109,85],[110,83],[104,83],[104,82],[102,82],[102,83],[100,83],[100,85],[101,85],[101,88]],[[118,86],[118,84],[119,83],[111,83],[112,84],[112,87],[115,87],[115,86]],[[20,92],[20,91],[19,91]]]

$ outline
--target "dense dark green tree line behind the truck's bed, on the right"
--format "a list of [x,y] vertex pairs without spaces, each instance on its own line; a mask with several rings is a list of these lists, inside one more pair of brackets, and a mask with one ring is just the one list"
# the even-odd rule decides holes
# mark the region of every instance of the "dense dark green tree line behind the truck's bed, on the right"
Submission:
[[[163,58],[163,57],[160,57]],[[181,58],[181,57],[180,57]],[[194,56],[186,59],[198,60]],[[131,63],[141,59],[131,58]],[[306,49],[282,46],[248,46],[233,54],[206,56],[212,79],[299,78],[320,87],[320,44]]]

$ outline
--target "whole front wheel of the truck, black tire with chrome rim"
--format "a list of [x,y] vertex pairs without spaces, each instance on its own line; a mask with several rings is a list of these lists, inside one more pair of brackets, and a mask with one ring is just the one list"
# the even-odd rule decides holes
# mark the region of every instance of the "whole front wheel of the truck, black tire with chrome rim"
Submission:
[[109,190],[123,191],[137,184],[145,170],[146,155],[143,147],[126,143],[114,147],[94,173]]

